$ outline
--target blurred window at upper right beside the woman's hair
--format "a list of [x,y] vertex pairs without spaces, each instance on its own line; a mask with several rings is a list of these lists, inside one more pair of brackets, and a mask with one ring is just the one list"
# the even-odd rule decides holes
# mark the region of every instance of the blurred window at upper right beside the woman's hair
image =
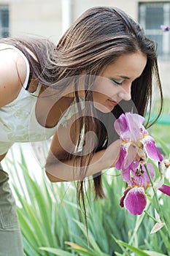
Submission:
[[170,59],[170,33],[163,32],[161,25],[170,26],[170,1],[139,3],[139,23],[148,38],[158,42],[158,57]]

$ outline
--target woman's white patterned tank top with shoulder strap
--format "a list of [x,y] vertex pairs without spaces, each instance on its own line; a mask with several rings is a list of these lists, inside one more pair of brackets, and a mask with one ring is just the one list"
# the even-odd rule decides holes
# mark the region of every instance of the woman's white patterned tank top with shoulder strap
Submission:
[[41,86],[37,86],[34,93],[26,91],[29,78],[29,64],[26,56],[12,45],[7,48],[12,48],[26,61],[26,80],[23,84],[18,97],[8,105],[0,108],[0,155],[8,151],[15,142],[36,142],[49,139],[59,125],[66,126],[67,121],[76,113],[77,108],[68,108],[63,114],[58,124],[53,128],[42,127],[36,120],[35,107],[36,100],[39,96]]

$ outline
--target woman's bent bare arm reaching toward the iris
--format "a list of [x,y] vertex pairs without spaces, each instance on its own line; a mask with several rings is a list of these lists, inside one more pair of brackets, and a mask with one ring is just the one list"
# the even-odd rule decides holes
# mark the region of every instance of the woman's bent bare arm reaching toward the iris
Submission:
[[[75,143],[75,138],[77,138],[74,127],[72,126],[72,129],[70,129],[71,132],[68,132],[69,129],[70,126],[67,128],[59,127],[50,146],[45,170],[47,177],[52,182],[74,181],[80,177],[80,159],[77,161],[77,167],[73,167],[73,159],[66,159],[66,151],[73,153],[74,144],[72,141]],[[90,161],[90,165],[88,165],[86,176],[92,176],[101,170],[113,167],[119,157],[119,151],[120,140],[116,140],[107,149],[96,152]]]

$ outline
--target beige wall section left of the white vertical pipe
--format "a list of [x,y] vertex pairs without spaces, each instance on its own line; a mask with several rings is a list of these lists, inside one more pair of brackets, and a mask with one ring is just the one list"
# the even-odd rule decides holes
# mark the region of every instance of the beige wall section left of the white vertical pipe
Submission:
[[0,0],[9,5],[11,36],[61,37],[61,0]]

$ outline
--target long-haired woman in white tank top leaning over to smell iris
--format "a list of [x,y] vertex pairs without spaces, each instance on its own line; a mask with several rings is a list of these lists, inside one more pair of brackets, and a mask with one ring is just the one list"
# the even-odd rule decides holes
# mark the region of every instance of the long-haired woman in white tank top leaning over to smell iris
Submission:
[[[56,47],[46,39],[7,38],[0,48],[0,160],[15,142],[53,135],[45,166],[50,181],[77,180],[83,201],[83,181],[93,176],[96,197],[104,197],[101,171],[115,166],[120,151],[115,118],[126,111],[146,113],[153,78],[162,108],[155,43],[123,11],[94,7]],[[20,256],[7,180],[1,170],[0,255]]]

